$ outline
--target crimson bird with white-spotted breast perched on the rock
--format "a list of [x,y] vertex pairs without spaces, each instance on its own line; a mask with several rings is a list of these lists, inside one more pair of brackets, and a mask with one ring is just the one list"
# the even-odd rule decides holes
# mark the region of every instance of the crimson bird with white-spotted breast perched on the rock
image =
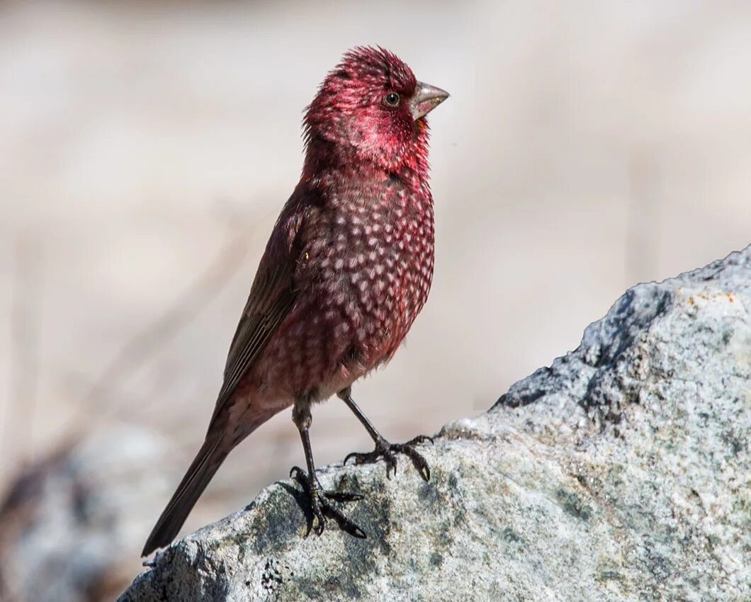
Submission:
[[228,453],[279,411],[293,406],[307,471],[292,473],[309,495],[315,531],[325,516],[363,531],[330,500],[315,476],[310,408],[336,393],[375,441],[359,464],[379,458],[396,469],[426,441],[390,444],[351,398],[351,384],[387,363],[424,306],[433,278],[433,197],[425,120],[448,98],[418,82],[382,48],[349,51],[331,71],[304,119],[303,175],[276,221],[230,346],[209,429],[143,555],[170,543]]

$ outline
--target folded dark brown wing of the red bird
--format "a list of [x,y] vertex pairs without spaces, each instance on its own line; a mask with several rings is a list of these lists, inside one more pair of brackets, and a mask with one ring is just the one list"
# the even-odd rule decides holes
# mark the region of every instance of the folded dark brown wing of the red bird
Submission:
[[304,210],[293,195],[282,209],[258,264],[248,302],[230,345],[224,382],[209,423],[209,432],[222,416],[240,380],[294,307],[299,292],[294,275],[300,255],[298,237],[303,221]]

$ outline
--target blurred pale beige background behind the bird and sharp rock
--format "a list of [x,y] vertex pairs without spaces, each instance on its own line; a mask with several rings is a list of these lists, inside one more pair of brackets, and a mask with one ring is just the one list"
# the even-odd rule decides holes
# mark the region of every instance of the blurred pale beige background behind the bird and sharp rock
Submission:
[[[0,598],[111,600],[203,440],[324,74],[381,44],[430,116],[436,275],[355,399],[478,414],[638,281],[751,242],[748,2],[0,4]],[[315,408],[318,463],[369,450]],[[185,526],[303,454],[287,412]]]

